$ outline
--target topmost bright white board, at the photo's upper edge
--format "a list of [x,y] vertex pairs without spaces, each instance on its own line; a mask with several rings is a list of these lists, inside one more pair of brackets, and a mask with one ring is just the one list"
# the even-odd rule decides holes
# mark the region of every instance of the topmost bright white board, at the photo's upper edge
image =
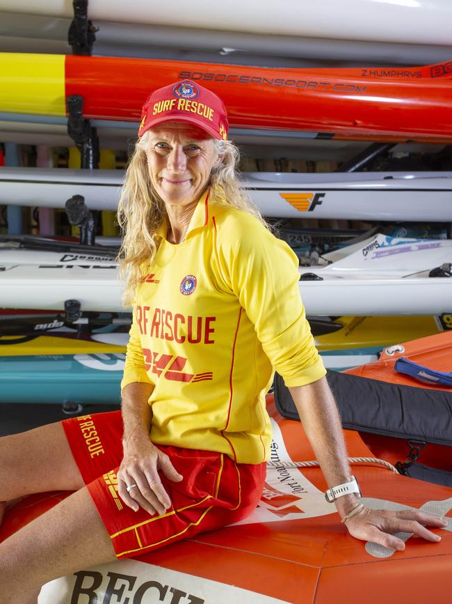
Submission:
[[[309,3],[307,10],[305,2],[291,0],[283,6],[269,4],[262,10],[257,0],[245,5],[239,0],[232,0],[225,11],[220,6],[209,6],[206,10],[206,3],[202,0],[195,0],[187,6],[177,0],[169,0],[159,6],[150,6],[145,0],[133,0],[127,4],[90,0],[88,17],[297,37],[452,44],[448,26],[452,21],[452,8],[448,0],[380,4],[373,0],[347,0],[339,6],[334,0],[324,0],[318,6]],[[72,5],[65,0],[38,4],[33,0],[3,0],[1,10],[54,17],[72,17],[74,14]],[[353,20],[350,20],[350,15],[353,15]]]

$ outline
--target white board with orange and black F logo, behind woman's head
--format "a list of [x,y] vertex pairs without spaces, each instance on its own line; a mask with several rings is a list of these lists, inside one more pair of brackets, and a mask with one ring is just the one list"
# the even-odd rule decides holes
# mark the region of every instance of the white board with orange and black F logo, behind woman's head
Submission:
[[[449,221],[452,172],[243,173],[268,217]],[[79,194],[91,210],[115,210],[122,171],[0,168],[0,203],[63,208]]]

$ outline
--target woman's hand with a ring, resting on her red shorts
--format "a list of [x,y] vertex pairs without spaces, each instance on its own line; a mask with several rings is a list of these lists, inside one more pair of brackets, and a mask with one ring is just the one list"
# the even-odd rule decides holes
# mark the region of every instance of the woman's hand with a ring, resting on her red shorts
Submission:
[[[171,507],[157,470],[175,482],[183,478],[168,455],[152,444],[147,435],[130,438],[118,470],[118,492],[124,504],[134,511],[142,507],[151,516],[156,512],[164,514]],[[127,487],[132,487],[129,492]]]

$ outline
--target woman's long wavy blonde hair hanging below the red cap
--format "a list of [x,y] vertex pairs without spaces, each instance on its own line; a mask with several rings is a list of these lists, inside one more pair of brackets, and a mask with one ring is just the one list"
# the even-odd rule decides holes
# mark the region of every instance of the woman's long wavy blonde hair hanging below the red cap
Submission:
[[[122,229],[118,261],[120,277],[126,284],[122,300],[124,305],[134,304],[136,287],[143,277],[143,270],[154,261],[158,248],[156,231],[166,215],[165,204],[152,185],[147,167],[149,137],[148,130],[136,141],[118,204],[118,224]],[[211,172],[211,201],[248,212],[268,228],[261,212],[238,179],[239,149],[231,141],[215,140],[215,150],[221,159]]]

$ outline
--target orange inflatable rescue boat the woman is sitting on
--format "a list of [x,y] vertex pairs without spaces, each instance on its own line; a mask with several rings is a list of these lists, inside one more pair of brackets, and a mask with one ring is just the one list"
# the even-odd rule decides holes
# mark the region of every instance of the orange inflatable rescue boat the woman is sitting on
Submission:
[[[298,462],[313,460],[314,454],[300,422],[285,419],[277,411],[279,408],[284,415],[291,413],[291,399],[286,396],[288,391],[284,392],[281,382],[277,381],[275,397],[270,395],[267,398],[273,424],[273,443],[266,488],[259,506],[249,518],[239,525],[200,534],[194,539],[181,541],[137,559],[81,568],[73,575],[45,585],[38,602],[395,604],[428,598],[435,604],[449,603],[452,488],[403,476],[394,472],[387,462],[374,459],[377,451],[373,445],[378,444],[378,438],[392,440],[396,444],[404,442],[403,429],[414,432],[419,426],[416,421],[410,426],[406,417],[407,407],[399,397],[389,403],[398,410],[398,417],[402,421],[399,425],[382,428],[378,401],[383,399],[369,396],[366,382],[407,388],[411,394],[416,390],[431,393],[430,405],[435,411],[430,406],[423,417],[430,415],[433,421],[424,421],[425,425],[420,422],[420,427],[425,428],[424,437],[435,440],[435,434],[430,434],[435,427],[433,413],[439,409],[435,405],[439,405],[438,400],[443,405],[447,405],[448,401],[450,404],[452,389],[426,387],[412,378],[397,376],[392,379],[392,371],[394,359],[400,355],[410,359],[415,357],[418,362],[422,361],[437,371],[451,369],[450,364],[449,367],[444,365],[449,363],[448,359],[452,359],[452,334],[423,338],[403,344],[403,348],[403,353],[400,349],[394,352],[385,350],[378,363],[363,369],[336,374],[361,384],[355,392],[348,389],[350,396],[338,398],[344,398],[346,403],[355,401],[358,408],[367,407],[370,419],[374,420],[373,433],[372,421],[369,426],[352,426],[353,408],[349,405],[348,411],[351,408],[352,415],[345,419],[349,427],[354,429],[344,430],[348,454],[350,458],[355,458],[352,462],[353,473],[360,482],[362,501],[366,506],[391,510],[414,508],[445,516],[449,519],[449,525],[445,529],[435,529],[442,536],[442,541],[428,543],[404,533],[400,536],[407,547],[403,552],[396,552],[351,537],[344,524],[341,524],[334,504],[325,500],[323,492],[327,485],[320,468],[309,465],[297,467]],[[443,360],[440,362],[441,357]],[[376,378],[376,375],[380,377]],[[382,378],[382,375],[386,377]],[[401,381],[396,383],[397,380]],[[337,395],[339,387],[336,386],[333,384]],[[372,386],[375,387],[375,384]],[[344,390],[341,392],[344,393]],[[437,399],[438,395],[446,398],[440,396]],[[406,405],[410,400],[414,398],[409,397]],[[344,413],[348,411],[341,405],[341,400],[338,402],[344,420]],[[445,409],[443,407],[443,414],[436,418],[437,440],[442,444],[428,443],[425,450],[430,445],[444,447],[444,450],[449,449],[450,458],[451,445],[448,447],[444,435],[451,438],[451,408],[446,426],[443,425]],[[415,410],[418,410],[418,406]],[[392,417],[385,406],[382,414],[383,417]],[[416,417],[414,415],[414,420]],[[355,419],[361,421],[359,413]],[[364,432],[363,428],[367,431]],[[400,434],[396,435],[397,431]],[[389,436],[389,432],[393,435]],[[367,435],[371,435],[374,441],[364,442]],[[414,433],[410,435],[419,436]],[[379,457],[391,458],[392,461],[398,457],[397,451],[394,453],[387,444],[380,449],[377,452]],[[389,454],[382,455],[385,452]],[[398,459],[403,461],[404,454]],[[37,494],[15,504],[6,512],[0,527],[0,541],[67,495]]]

